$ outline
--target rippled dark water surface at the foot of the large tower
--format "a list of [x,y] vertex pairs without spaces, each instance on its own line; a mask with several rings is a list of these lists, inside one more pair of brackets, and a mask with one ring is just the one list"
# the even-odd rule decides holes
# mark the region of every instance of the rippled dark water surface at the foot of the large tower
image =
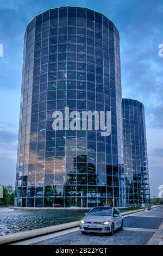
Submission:
[[80,220],[88,210],[14,210],[0,208],[0,235]]

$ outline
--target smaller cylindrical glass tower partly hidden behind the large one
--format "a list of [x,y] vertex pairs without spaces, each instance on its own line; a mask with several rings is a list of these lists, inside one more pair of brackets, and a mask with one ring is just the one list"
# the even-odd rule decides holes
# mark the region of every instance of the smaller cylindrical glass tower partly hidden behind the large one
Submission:
[[149,203],[145,108],[137,100],[122,99],[126,204]]

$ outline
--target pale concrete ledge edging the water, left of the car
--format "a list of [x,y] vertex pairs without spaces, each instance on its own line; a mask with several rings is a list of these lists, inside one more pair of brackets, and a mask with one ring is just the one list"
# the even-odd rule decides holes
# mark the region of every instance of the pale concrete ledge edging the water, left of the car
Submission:
[[53,233],[53,232],[64,230],[64,229],[78,227],[79,223],[80,221],[74,221],[74,222],[69,222],[69,223],[64,223],[59,225],[53,225],[50,227],[36,228],[28,231],[22,231],[22,232],[13,233],[10,235],[0,236],[0,245],[2,245],[3,243],[15,242],[18,240],[28,239],[34,236],[45,235],[45,234]]

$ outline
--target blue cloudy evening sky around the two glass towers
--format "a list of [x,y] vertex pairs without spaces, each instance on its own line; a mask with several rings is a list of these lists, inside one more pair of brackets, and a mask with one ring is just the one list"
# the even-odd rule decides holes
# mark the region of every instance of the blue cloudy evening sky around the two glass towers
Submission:
[[120,32],[122,96],[145,105],[151,196],[163,185],[162,0],[0,0],[0,184],[15,185],[23,38],[41,12],[66,5],[97,10]]

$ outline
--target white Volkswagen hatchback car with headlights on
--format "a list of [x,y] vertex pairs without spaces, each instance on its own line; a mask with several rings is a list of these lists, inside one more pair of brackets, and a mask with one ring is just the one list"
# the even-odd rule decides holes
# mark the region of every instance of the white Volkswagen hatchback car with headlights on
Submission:
[[123,230],[123,219],[121,212],[115,207],[95,207],[80,222],[80,231],[83,234],[94,232],[114,235],[117,229]]

